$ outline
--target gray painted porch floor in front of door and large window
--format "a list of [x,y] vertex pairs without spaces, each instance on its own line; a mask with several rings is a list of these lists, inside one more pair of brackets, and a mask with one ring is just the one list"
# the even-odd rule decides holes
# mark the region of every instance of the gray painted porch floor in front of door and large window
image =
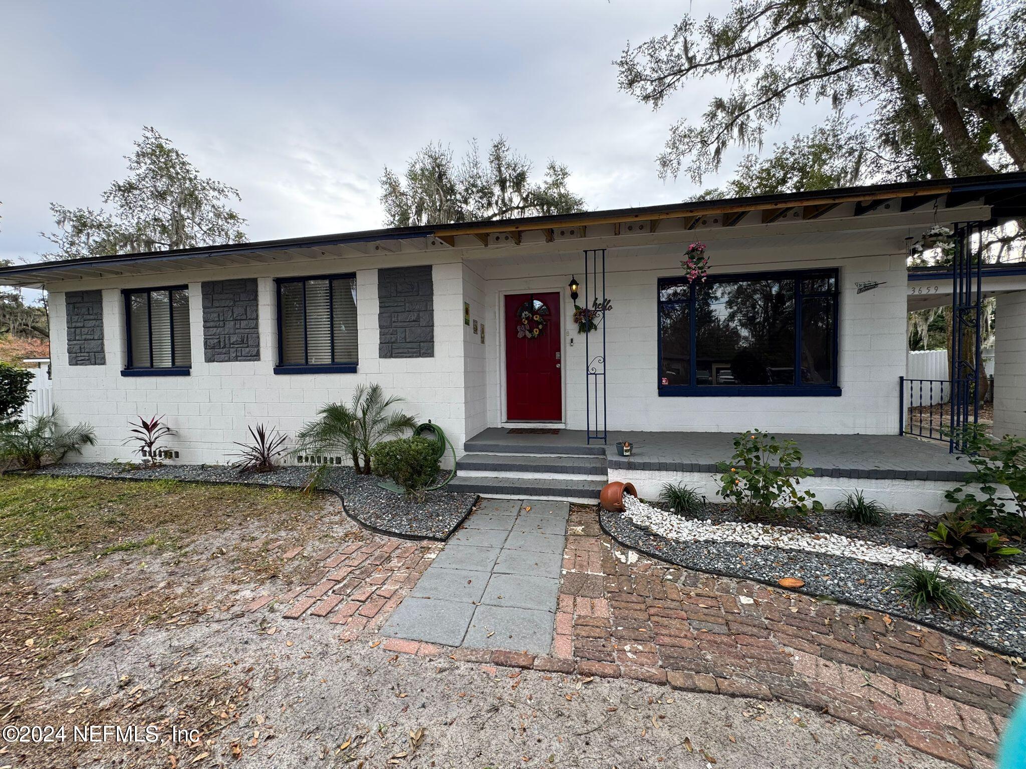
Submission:
[[[803,464],[817,476],[832,478],[961,481],[972,467],[946,443],[885,435],[775,434],[792,438],[801,449]],[[734,433],[610,432],[607,445],[587,441],[583,430],[560,430],[558,435],[510,434],[488,428],[468,440],[467,452],[523,454],[605,454],[610,469],[715,473],[716,462],[734,453]],[[629,457],[617,454],[618,441],[633,444]]]

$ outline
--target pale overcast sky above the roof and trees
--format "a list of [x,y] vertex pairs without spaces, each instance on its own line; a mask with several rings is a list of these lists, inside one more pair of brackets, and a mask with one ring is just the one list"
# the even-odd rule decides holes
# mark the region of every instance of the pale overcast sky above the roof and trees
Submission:
[[[100,206],[144,125],[238,188],[254,240],[381,227],[383,166],[500,132],[539,171],[567,164],[590,209],[682,200],[692,184],[660,180],[656,155],[725,84],[654,113],[617,89],[611,62],[723,5],[0,0],[0,257],[46,250],[49,202]],[[771,140],[822,112],[792,113]]]

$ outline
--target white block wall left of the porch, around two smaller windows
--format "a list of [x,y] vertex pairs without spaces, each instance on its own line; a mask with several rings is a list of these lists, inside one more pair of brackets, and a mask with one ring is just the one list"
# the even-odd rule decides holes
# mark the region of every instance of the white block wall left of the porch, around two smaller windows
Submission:
[[[432,261],[430,254],[407,258],[407,264]],[[246,442],[246,428],[264,422],[293,435],[312,419],[324,403],[348,401],[359,383],[379,382],[388,395],[406,399],[401,409],[421,420],[439,423],[457,447],[465,437],[463,366],[463,266],[459,261],[435,264],[435,356],[418,359],[379,359],[377,269],[396,266],[394,260],[339,259],[241,269],[204,270],[168,277],[124,278],[116,287],[98,281],[76,282],[74,287],[50,287],[53,397],[62,421],[86,421],[95,428],[97,445],[86,447],[70,460],[130,459],[128,420],[137,415],[166,414],[176,435],[168,448],[180,452],[179,461],[223,463]],[[311,267],[314,264],[315,266]],[[284,276],[356,273],[359,333],[357,373],[273,373],[277,359],[277,319],[274,278]],[[260,305],[261,360],[206,363],[203,360],[203,319],[200,282],[256,277]],[[192,370],[189,376],[122,376],[126,360],[125,319],[121,289],[188,283],[192,320]],[[104,366],[69,366],[64,290],[103,288]],[[346,460],[346,457],[343,457]]]

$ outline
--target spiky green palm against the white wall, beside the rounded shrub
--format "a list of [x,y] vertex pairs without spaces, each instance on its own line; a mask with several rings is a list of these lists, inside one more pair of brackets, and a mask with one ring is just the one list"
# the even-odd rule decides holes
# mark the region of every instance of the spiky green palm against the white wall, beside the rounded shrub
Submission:
[[386,398],[381,385],[360,385],[348,405],[328,403],[317,412],[319,418],[297,434],[293,453],[345,452],[352,457],[357,473],[369,475],[371,449],[386,438],[397,438],[417,427],[409,414],[389,412],[403,400],[397,395]]

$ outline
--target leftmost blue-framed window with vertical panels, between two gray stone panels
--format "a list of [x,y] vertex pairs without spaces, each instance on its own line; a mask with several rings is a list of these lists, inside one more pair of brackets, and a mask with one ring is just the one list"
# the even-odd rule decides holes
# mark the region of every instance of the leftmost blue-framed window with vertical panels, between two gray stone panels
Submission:
[[189,289],[126,289],[128,332],[126,373],[188,373],[192,365]]

